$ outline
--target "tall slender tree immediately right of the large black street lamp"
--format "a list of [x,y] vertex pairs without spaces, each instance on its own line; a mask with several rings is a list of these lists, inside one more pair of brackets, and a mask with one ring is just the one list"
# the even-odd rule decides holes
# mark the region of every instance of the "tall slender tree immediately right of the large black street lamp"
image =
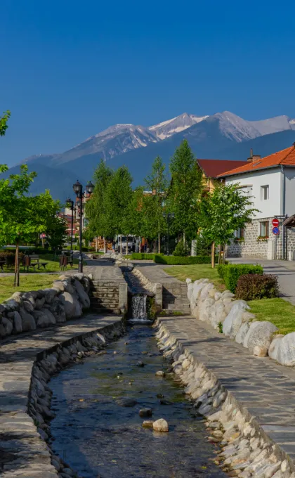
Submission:
[[87,230],[89,236],[96,237],[107,235],[107,212],[106,212],[106,190],[110,183],[114,170],[107,167],[105,161],[100,160],[93,175],[95,188],[90,199],[86,202],[86,218],[88,220]]

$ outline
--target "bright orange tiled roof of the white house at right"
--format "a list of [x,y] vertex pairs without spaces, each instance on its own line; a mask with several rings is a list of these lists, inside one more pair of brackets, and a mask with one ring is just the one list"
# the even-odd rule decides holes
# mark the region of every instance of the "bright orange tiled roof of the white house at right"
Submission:
[[228,172],[218,174],[218,177],[221,178],[224,176],[232,176],[233,174],[248,173],[258,169],[279,166],[280,164],[295,167],[295,145],[282,151],[278,151],[277,153],[273,153],[272,155],[261,157],[261,159],[254,160],[254,162],[247,162],[244,166],[230,169]]

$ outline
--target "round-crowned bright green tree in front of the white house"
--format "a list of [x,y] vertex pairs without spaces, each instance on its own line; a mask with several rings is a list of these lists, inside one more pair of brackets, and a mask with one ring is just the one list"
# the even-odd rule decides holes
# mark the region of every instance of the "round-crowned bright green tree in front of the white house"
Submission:
[[[251,222],[258,209],[237,184],[217,184],[201,202],[202,234],[214,245],[225,246],[235,238],[235,231]],[[224,257],[223,257],[224,259]],[[214,266],[214,247],[212,247]]]

